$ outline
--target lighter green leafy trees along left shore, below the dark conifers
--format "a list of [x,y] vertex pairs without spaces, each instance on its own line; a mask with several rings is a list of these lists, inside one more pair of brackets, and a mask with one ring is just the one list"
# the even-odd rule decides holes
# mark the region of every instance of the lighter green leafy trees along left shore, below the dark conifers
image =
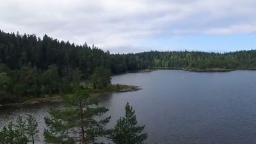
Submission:
[[0,103],[19,103],[31,96],[72,92],[73,87],[80,81],[81,71],[75,69],[72,79],[69,80],[67,77],[60,78],[57,69],[57,66],[51,65],[46,71],[40,72],[31,66],[24,66],[12,77],[1,72]]

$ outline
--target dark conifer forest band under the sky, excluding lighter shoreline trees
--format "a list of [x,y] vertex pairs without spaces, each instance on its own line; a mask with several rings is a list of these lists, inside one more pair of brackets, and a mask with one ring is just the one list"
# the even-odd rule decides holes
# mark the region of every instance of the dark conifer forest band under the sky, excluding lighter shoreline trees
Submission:
[[255,69],[256,50],[229,53],[151,51],[111,55],[95,46],[87,46],[86,43],[81,46],[47,35],[40,39],[34,34],[0,31],[0,63],[12,70],[30,65],[40,71],[56,65],[60,76],[79,68],[86,77],[99,66],[111,69],[112,73],[153,67]]

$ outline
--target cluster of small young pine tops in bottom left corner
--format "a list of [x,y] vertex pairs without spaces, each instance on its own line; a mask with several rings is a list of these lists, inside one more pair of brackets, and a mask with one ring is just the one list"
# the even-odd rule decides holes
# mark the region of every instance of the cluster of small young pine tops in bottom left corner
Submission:
[[[2,127],[0,130],[0,143],[17,143],[25,144],[34,143],[34,136],[39,132],[37,130],[37,122],[32,116],[28,116],[27,120],[23,120],[21,116],[15,121],[10,122],[8,126]],[[33,135],[33,139],[29,139]]]

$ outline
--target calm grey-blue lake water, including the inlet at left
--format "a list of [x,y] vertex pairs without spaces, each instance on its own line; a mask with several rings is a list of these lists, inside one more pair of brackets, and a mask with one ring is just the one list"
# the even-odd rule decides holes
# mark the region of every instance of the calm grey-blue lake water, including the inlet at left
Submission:
[[[113,76],[113,84],[137,85],[135,92],[102,95],[112,127],[128,101],[145,124],[148,143],[256,143],[256,71],[162,70]],[[57,104],[0,110],[0,126],[18,114],[43,117]],[[39,139],[38,143],[43,143]]]

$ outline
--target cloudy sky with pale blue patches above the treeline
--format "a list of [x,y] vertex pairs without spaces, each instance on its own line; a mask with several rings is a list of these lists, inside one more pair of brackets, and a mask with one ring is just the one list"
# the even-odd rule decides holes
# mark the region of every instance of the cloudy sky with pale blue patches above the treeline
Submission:
[[0,0],[0,30],[110,53],[255,49],[255,0]]

